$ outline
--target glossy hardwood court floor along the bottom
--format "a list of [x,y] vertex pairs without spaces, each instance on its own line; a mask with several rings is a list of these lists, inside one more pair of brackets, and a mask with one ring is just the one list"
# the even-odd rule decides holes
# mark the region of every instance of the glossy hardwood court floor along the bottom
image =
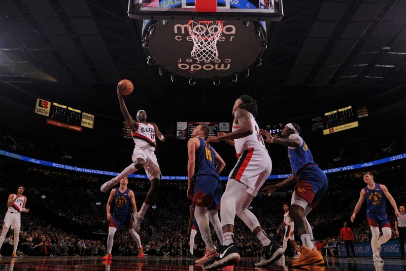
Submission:
[[[196,257],[197,259],[197,257]],[[223,271],[406,271],[406,260],[384,259],[385,264],[374,264],[370,258],[357,259],[334,259],[326,258],[325,266],[310,266],[306,268],[291,268],[288,264],[293,259],[287,257],[286,260],[279,260],[269,267],[258,268],[254,263],[258,261],[254,257],[242,257],[241,262],[236,266],[224,267]],[[0,258],[0,271],[3,270],[89,270],[89,271],[115,271],[115,270],[136,270],[136,271],[203,271],[200,265],[194,265],[192,260],[186,257],[155,257],[145,256],[139,260],[137,257],[116,256],[112,261],[102,261],[95,256],[65,256],[65,257],[38,257],[22,256],[17,259],[3,256]]]

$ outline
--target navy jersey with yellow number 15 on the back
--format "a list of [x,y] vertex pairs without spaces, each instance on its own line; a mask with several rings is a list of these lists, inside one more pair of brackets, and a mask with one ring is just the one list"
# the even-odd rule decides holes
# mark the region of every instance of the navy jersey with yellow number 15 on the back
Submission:
[[196,164],[194,176],[199,175],[212,175],[220,179],[219,174],[216,171],[216,164],[214,158],[216,153],[211,145],[206,144],[206,140],[198,138],[200,146],[196,149]]

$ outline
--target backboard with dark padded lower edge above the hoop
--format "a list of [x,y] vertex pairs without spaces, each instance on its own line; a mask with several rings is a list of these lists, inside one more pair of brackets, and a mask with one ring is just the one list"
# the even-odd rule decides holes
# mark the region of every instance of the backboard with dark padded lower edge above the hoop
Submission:
[[217,0],[216,12],[196,12],[195,0],[129,0],[128,16],[150,20],[280,21],[282,0]]

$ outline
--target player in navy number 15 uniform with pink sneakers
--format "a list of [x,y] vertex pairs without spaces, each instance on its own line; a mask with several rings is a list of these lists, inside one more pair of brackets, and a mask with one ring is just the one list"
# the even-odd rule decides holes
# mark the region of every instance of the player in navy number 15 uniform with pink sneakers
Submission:
[[[221,184],[219,173],[225,167],[223,159],[214,148],[206,143],[209,129],[205,125],[198,125],[193,129],[192,138],[187,142],[189,161],[187,163],[188,188],[187,196],[193,198],[194,218],[200,230],[201,238],[206,244],[205,255],[196,260],[197,264],[204,264],[217,254],[210,233],[209,218],[216,229],[217,236],[222,239],[220,209]],[[195,180],[192,192],[192,179]]]

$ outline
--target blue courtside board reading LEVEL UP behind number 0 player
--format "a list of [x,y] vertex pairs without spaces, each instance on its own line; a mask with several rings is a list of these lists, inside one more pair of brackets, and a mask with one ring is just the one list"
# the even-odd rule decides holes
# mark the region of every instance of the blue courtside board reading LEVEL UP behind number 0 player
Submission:
[[[406,248],[406,246],[405,246]],[[346,247],[344,244],[339,244],[337,246],[339,251],[339,257],[347,257]],[[354,243],[355,255],[357,257],[372,257],[372,248],[370,242]],[[350,255],[352,256],[351,248]],[[399,257],[400,256],[400,246],[398,240],[389,240],[381,247],[381,256],[385,257]]]

